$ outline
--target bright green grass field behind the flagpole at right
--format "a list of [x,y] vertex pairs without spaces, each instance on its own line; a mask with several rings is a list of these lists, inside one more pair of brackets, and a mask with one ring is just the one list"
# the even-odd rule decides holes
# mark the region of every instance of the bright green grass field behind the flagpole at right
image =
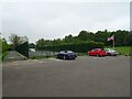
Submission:
[[[106,48],[112,48],[112,47],[107,47]],[[132,50],[132,47],[131,47]],[[130,55],[130,46],[119,46],[119,47],[116,47],[116,51],[118,51],[119,53],[121,53],[121,55]],[[131,54],[132,56],[132,54]]]

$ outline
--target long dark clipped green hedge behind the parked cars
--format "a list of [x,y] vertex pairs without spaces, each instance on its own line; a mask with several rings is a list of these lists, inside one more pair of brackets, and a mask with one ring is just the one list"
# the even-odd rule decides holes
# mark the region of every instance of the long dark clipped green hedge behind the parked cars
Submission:
[[99,48],[99,47],[103,48],[105,44],[100,42],[65,43],[59,45],[38,47],[38,50],[54,51],[54,52],[70,50],[74,52],[86,53],[89,50]]

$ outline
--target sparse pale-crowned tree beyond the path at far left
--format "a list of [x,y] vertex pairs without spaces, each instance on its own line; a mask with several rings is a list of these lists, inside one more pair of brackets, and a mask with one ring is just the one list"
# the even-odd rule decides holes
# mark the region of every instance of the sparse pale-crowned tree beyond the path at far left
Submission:
[[28,42],[28,37],[26,36],[19,36],[16,34],[11,34],[11,36],[9,36],[9,41],[12,44],[12,48],[15,50],[18,45]]

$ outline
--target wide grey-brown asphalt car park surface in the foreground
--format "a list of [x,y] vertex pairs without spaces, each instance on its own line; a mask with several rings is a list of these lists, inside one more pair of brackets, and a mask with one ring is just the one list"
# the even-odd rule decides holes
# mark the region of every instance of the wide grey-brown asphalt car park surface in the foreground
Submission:
[[130,57],[3,63],[3,97],[130,97]]

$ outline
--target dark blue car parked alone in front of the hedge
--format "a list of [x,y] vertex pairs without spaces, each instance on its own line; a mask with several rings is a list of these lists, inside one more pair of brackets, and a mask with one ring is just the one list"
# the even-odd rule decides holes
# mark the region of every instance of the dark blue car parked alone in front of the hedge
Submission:
[[75,54],[73,51],[61,51],[57,54],[57,58],[61,59],[75,59],[77,57],[77,54]]

